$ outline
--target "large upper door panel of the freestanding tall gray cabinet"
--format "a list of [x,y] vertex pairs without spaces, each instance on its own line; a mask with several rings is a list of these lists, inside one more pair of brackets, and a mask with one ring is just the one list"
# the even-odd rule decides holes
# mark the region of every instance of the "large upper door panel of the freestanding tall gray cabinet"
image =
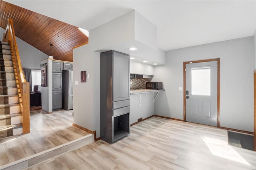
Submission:
[[129,55],[113,51],[113,101],[130,99]]

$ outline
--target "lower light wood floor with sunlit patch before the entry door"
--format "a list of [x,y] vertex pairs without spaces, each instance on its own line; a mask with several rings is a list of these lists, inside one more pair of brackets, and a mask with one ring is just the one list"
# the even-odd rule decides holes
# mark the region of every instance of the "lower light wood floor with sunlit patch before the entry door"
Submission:
[[255,170],[256,152],[230,146],[227,131],[152,117],[113,144],[102,140],[30,170]]

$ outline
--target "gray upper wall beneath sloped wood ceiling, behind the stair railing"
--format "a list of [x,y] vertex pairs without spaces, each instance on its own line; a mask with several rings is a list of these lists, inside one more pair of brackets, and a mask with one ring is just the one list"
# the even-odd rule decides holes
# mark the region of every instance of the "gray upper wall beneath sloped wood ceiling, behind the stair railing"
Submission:
[[[0,28],[0,40],[3,39],[4,29]],[[48,55],[36,49],[32,45],[16,37],[20,60],[23,68],[40,69],[41,60],[48,58]]]

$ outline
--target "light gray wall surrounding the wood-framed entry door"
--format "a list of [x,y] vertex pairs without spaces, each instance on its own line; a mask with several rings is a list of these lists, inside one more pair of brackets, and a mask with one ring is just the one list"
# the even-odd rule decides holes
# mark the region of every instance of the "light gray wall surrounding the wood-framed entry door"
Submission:
[[154,68],[153,81],[166,90],[155,114],[183,119],[183,62],[212,58],[220,58],[220,126],[253,132],[252,37],[166,51],[166,65]]

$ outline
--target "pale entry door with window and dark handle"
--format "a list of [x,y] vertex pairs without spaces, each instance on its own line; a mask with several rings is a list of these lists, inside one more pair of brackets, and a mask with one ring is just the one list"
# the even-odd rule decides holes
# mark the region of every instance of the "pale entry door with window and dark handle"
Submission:
[[217,61],[186,64],[186,121],[217,126]]

